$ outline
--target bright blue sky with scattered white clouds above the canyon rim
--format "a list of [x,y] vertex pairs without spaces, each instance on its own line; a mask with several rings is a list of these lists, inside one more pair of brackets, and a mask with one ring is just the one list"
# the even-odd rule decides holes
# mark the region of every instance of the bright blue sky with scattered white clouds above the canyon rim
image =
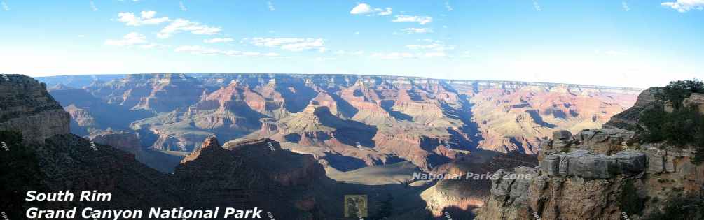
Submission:
[[704,78],[704,0],[0,0],[0,72],[656,86]]

